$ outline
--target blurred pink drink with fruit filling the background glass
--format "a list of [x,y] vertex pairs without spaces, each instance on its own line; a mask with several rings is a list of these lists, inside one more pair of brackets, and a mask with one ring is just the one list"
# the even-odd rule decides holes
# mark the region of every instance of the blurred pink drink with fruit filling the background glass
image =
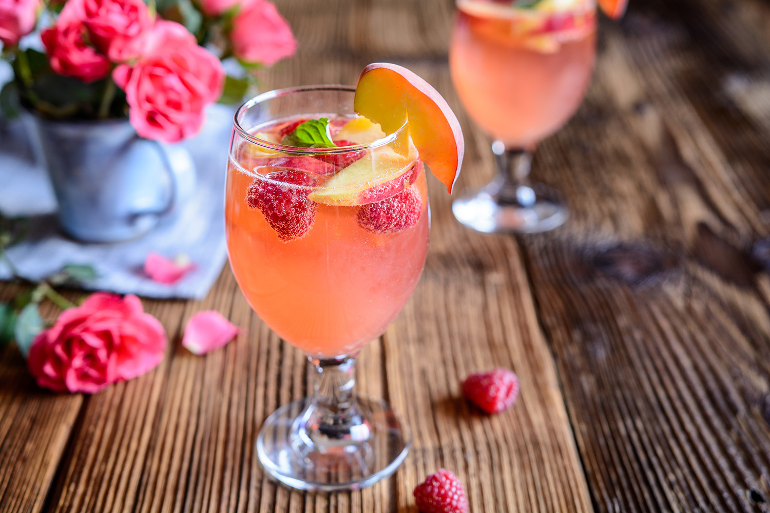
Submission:
[[593,2],[538,12],[461,0],[450,43],[452,79],[485,132],[509,148],[532,148],[580,105],[595,40]]

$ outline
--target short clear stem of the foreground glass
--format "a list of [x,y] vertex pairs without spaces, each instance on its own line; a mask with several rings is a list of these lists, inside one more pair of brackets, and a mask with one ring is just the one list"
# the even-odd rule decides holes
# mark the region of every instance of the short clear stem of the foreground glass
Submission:
[[314,371],[313,401],[305,429],[313,445],[330,447],[367,439],[369,430],[353,394],[356,355],[308,360]]

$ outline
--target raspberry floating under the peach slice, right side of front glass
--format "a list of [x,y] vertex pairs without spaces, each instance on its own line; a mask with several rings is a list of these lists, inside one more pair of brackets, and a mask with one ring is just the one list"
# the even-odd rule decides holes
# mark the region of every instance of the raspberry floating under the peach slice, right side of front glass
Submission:
[[358,225],[368,232],[397,233],[417,225],[422,213],[420,192],[411,186],[390,198],[361,205]]

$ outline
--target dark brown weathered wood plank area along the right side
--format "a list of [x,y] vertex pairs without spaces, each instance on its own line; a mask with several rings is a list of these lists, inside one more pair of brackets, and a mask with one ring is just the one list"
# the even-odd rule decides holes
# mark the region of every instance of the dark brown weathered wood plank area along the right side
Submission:
[[768,68],[706,4],[605,26],[587,102],[535,162],[573,217],[521,245],[601,511],[768,511],[770,308],[751,251],[770,152],[722,88]]

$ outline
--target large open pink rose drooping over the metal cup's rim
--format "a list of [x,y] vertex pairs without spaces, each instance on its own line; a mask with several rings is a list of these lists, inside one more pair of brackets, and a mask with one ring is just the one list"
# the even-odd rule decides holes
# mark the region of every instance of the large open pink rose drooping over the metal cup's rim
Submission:
[[203,109],[222,95],[222,63],[176,22],[159,20],[143,41],[136,65],[112,73],[126,92],[129,120],[142,137],[176,142],[195,135]]

